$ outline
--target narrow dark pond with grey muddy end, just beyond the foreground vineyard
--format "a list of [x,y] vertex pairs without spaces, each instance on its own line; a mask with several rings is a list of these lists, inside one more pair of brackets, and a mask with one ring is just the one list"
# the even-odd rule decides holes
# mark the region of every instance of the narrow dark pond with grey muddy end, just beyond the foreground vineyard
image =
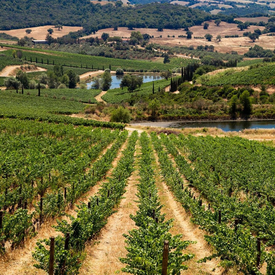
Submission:
[[241,131],[243,129],[272,129],[275,128],[275,120],[245,120],[245,121],[160,121],[160,122],[141,122],[142,126],[187,128],[187,127],[217,127],[225,132]]

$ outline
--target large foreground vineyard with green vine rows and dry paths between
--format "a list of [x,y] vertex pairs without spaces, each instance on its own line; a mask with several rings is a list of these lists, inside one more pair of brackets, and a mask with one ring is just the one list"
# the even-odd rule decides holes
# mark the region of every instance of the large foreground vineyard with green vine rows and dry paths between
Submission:
[[169,274],[275,272],[272,147],[19,119],[0,140],[3,274],[161,274],[164,241]]

